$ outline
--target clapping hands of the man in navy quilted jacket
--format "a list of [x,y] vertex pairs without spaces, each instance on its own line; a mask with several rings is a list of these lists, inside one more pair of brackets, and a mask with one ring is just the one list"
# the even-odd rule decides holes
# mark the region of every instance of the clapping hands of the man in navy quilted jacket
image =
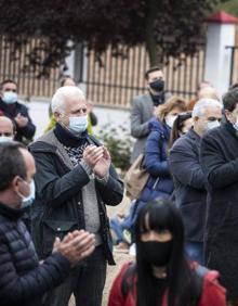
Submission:
[[84,230],[69,232],[61,241],[54,241],[53,253],[58,252],[74,266],[88,257],[95,248],[95,235]]

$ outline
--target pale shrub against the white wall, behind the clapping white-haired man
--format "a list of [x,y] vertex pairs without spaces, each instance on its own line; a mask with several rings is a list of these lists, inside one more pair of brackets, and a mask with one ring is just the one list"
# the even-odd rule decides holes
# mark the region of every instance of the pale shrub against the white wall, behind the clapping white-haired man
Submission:
[[97,133],[97,138],[110,152],[111,161],[122,171],[130,166],[132,139],[127,128],[121,126],[104,125]]

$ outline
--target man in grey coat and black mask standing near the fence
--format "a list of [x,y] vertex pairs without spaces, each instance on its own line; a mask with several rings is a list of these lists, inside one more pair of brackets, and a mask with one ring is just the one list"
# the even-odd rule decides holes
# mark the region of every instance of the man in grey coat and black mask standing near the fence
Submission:
[[144,152],[145,142],[149,135],[149,120],[154,116],[155,107],[171,98],[171,93],[164,91],[164,75],[161,67],[150,67],[145,73],[145,79],[148,92],[135,97],[131,103],[131,135],[136,139],[131,163]]

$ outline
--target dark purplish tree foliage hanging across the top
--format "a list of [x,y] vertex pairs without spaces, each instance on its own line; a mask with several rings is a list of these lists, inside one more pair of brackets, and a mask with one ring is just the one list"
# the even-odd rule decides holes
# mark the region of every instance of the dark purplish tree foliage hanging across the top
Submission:
[[[221,0],[222,1],[222,0]],[[146,43],[150,64],[162,54],[196,52],[204,38],[204,18],[219,0],[0,0],[0,34],[11,41],[13,56],[30,37],[40,41],[28,54],[29,66],[65,65],[77,43],[100,55],[113,46]],[[68,44],[71,41],[71,44]],[[18,55],[21,56],[21,55]]]

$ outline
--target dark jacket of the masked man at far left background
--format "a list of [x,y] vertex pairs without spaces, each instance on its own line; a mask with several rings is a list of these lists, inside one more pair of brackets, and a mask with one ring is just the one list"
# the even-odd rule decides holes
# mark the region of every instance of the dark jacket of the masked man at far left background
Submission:
[[4,116],[11,118],[12,120],[14,120],[17,114],[27,117],[28,124],[25,127],[17,127],[16,124],[16,135],[14,139],[16,141],[23,141],[23,138],[26,138],[27,140],[32,139],[36,132],[36,126],[32,124],[28,114],[28,110],[24,104],[16,102],[14,104],[8,105],[0,99],[0,111],[3,112]]

